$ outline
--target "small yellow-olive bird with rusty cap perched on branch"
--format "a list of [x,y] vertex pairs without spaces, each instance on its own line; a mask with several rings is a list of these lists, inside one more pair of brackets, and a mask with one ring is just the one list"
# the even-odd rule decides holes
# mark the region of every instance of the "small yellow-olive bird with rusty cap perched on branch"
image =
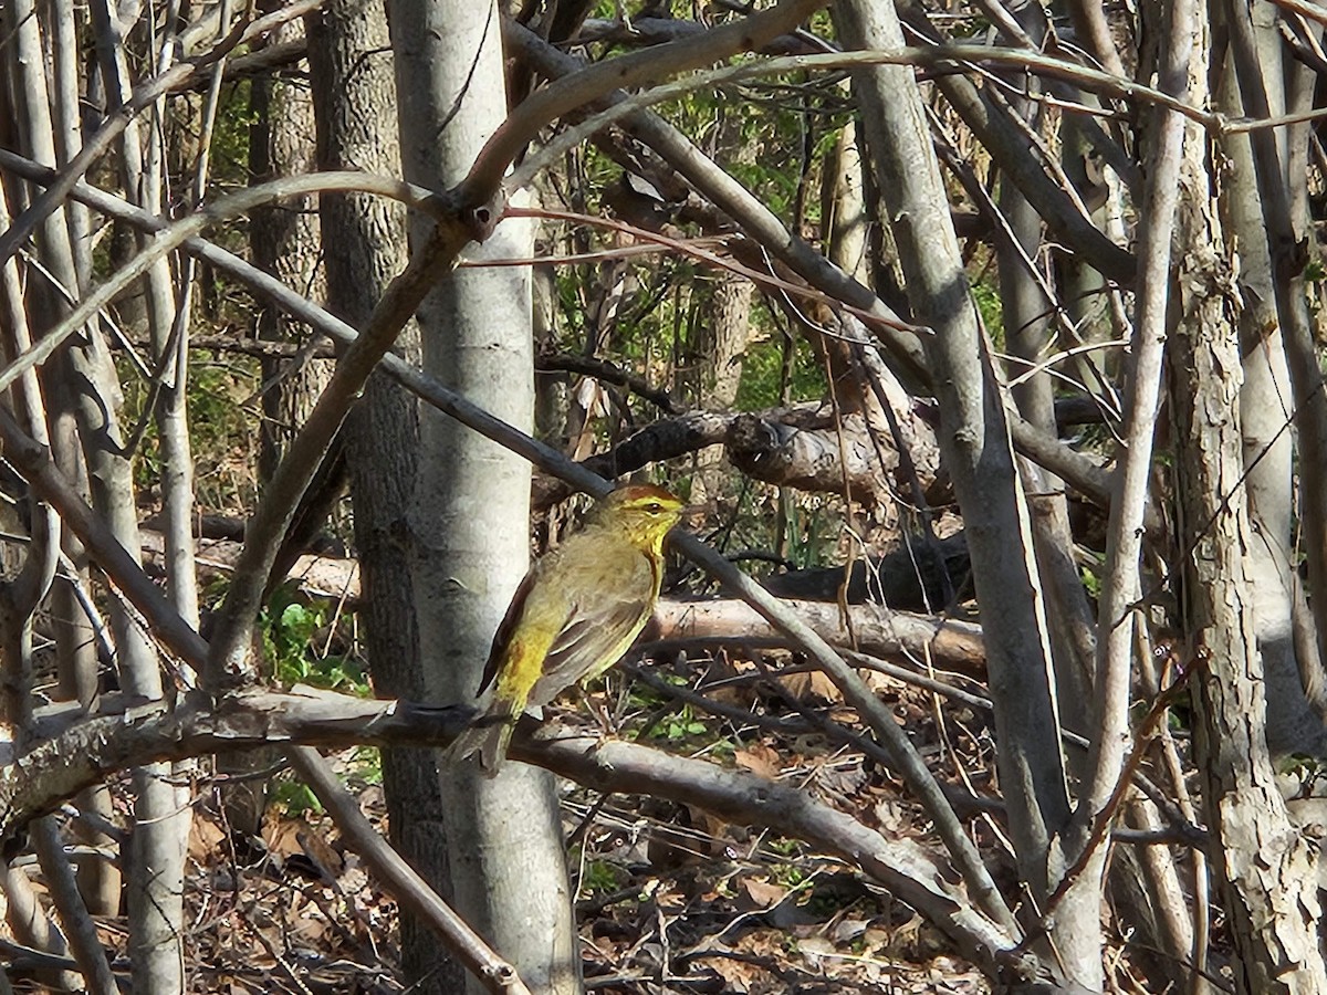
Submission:
[[547,704],[622,658],[654,614],[664,537],[682,511],[682,501],[660,487],[621,487],[529,568],[479,685],[479,694],[494,685],[492,700],[453,743],[451,759],[479,754],[484,772],[496,773],[525,708]]

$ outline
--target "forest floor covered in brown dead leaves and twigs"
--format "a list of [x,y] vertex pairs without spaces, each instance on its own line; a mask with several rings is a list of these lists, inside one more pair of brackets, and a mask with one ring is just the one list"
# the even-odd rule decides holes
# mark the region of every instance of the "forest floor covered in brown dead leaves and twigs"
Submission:
[[[682,683],[677,665],[671,670]],[[860,752],[836,748],[809,723],[803,732],[787,732],[808,707],[853,724],[853,712],[835,703],[832,686],[815,674],[795,674],[779,678],[775,690],[743,682],[742,674],[751,671],[740,663],[729,673],[727,686],[710,694],[750,708],[751,724],[705,716],[642,691],[637,682],[617,699],[624,735],[796,784],[880,832],[925,836],[925,821],[888,772]],[[966,776],[985,779],[979,758],[989,754],[990,739],[979,723],[971,724],[975,716],[942,714],[929,695],[888,678],[880,682],[877,690],[920,730],[933,760],[936,751],[953,760],[957,747]],[[594,696],[592,704],[606,704],[602,691]],[[569,703],[564,718],[577,715],[588,720],[583,706]],[[779,718],[780,731],[763,731],[762,716]],[[373,751],[346,751],[332,760],[385,832]],[[341,846],[330,820],[303,808],[297,785],[279,784],[276,795],[264,845],[249,856],[236,852],[207,805],[195,811],[187,881],[191,990],[405,991],[394,902]],[[721,823],[685,805],[602,797],[569,783],[563,784],[563,812],[592,991],[989,991],[982,975],[953,957],[946,938],[912,909],[798,840]],[[983,848],[998,846],[994,827],[981,820],[974,827],[987,833]],[[123,955],[122,921],[104,926],[104,939]]]

